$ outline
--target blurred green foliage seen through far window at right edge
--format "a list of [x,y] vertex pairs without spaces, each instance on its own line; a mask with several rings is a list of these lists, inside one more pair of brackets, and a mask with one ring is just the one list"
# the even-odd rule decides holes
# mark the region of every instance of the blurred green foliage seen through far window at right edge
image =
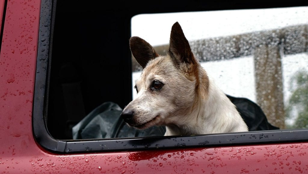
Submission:
[[287,128],[308,128],[308,72],[299,70],[291,78],[292,95],[286,108],[286,117],[292,118],[296,113],[294,124]]

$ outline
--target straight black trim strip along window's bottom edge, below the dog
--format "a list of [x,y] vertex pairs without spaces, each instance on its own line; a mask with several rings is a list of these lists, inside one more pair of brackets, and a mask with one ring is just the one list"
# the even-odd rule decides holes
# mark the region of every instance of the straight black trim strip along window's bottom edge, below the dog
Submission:
[[138,137],[67,141],[64,152],[126,151],[157,148],[192,148],[228,145],[279,144],[308,141],[308,130],[253,131],[197,136]]

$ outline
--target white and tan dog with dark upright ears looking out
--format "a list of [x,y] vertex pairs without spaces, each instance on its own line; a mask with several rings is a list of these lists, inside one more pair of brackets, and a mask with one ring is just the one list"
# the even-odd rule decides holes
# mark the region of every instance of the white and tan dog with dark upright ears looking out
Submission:
[[137,97],[121,113],[129,126],[164,125],[164,136],[248,131],[235,105],[194,57],[178,22],[166,56],[137,36],[129,44],[143,68],[134,87]]

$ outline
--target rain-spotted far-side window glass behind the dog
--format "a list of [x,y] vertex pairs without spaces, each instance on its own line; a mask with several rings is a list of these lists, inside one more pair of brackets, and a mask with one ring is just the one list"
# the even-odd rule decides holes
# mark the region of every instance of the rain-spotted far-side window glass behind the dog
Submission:
[[[225,94],[257,103],[280,129],[308,128],[307,16],[308,7],[140,14],[131,20],[131,34],[163,55],[179,22]],[[133,87],[141,74],[134,58],[132,70]]]

